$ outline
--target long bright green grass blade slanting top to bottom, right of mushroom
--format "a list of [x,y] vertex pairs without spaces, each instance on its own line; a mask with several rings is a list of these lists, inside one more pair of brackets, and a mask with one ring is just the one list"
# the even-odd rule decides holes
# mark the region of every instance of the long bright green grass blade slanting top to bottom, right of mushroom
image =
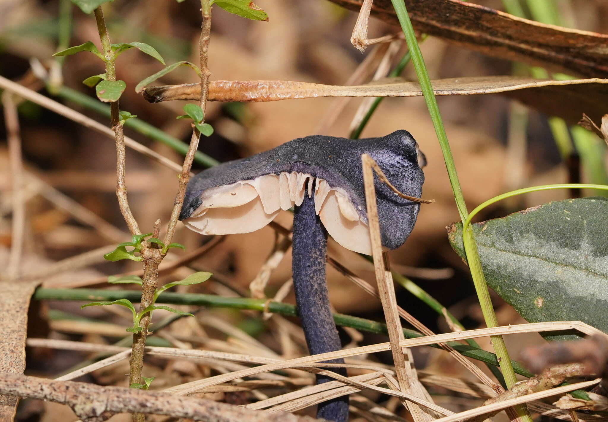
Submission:
[[[412,22],[410,21],[410,17],[407,14],[406,4],[404,0],[391,0],[391,2],[393,4],[393,8],[395,8],[399,23],[401,24],[401,29],[403,30],[403,33],[406,37],[407,47],[409,48],[410,54],[412,55],[412,62],[414,64],[414,68],[416,69],[418,82],[420,82],[420,87],[423,91],[424,100],[426,101],[427,108],[429,109],[429,114],[433,121],[433,125],[435,126],[435,134],[437,134],[437,139],[439,140],[439,144],[441,146],[443,160],[446,164],[447,175],[449,176],[450,184],[452,185],[452,192],[454,193],[454,199],[458,208],[458,213],[460,214],[461,220],[465,221],[468,217],[468,211],[466,209],[465,198],[460,188],[460,182],[458,181],[456,166],[454,164],[454,157],[452,156],[452,151],[450,149],[449,142],[447,141],[447,135],[443,126],[443,120],[441,120],[439,107],[437,105],[437,99],[435,99],[435,93],[430,83],[429,74],[426,71],[424,58],[422,57],[422,53],[420,52],[420,47],[418,47],[416,35],[412,27]],[[474,240],[472,241],[472,243],[475,243]],[[479,261],[476,245],[474,244],[474,246],[475,249],[471,249],[471,253],[474,254],[474,257],[477,259],[477,261]],[[489,300],[488,285],[486,285],[485,279],[479,279],[478,272],[474,271],[474,266],[471,267],[471,275],[473,278],[473,283],[475,285],[475,290],[477,291],[479,303],[482,306],[483,316],[485,317],[486,325],[488,327],[494,327],[495,325],[492,324],[497,323],[497,320],[496,313],[494,313],[494,308],[492,307],[492,302],[491,300]],[[493,336],[492,344],[494,345],[494,351],[496,351],[496,356],[499,357],[499,364],[500,368],[502,369],[502,375],[505,378],[506,386],[508,388],[511,388],[515,385],[517,379],[515,373],[513,372],[511,359],[509,358],[509,353],[506,350],[505,342],[503,341],[502,336]],[[525,405],[516,406],[514,407],[514,409],[516,410],[517,415],[522,419],[522,421],[532,422],[530,413],[528,412],[528,409]]]

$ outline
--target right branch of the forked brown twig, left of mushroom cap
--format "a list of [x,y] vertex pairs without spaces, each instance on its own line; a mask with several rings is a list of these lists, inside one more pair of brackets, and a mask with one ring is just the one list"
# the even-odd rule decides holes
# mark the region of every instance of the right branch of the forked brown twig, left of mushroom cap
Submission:
[[[199,99],[199,106],[202,110],[203,120],[205,118],[205,111],[207,107],[207,93],[209,92],[209,78],[211,72],[207,66],[207,51],[209,50],[209,40],[211,37],[211,6],[209,0],[201,0],[201,12],[202,12],[202,28],[201,38],[199,38],[199,55],[201,60],[201,97]],[[175,234],[175,229],[178,224],[179,213],[182,210],[184,204],[184,197],[186,195],[186,187],[190,181],[190,168],[192,168],[192,161],[194,160],[194,154],[198,149],[198,143],[201,134],[198,133],[196,128],[192,130],[192,137],[190,138],[190,146],[184,159],[184,165],[182,166],[182,173],[179,177],[178,193],[175,196],[173,202],[173,210],[171,211],[171,218],[167,227],[167,234],[165,235],[164,243],[170,244]]]

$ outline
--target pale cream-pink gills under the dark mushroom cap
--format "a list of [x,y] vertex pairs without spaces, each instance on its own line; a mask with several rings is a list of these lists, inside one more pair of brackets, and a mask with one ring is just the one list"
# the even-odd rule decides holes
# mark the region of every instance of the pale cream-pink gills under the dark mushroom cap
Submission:
[[254,232],[274,220],[280,210],[300,206],[304,195],[314,195],[315,211],[337,243],[371,255],[367,223],[348,193],[330,186],[325,179],[297,171],[271,173],[207,189],[201,195],[201,205],[184,224],[204,235]]

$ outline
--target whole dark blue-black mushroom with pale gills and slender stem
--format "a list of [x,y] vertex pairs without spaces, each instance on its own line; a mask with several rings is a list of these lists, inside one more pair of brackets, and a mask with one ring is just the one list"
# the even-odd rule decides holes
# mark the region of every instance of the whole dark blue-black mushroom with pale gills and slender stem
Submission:
[[[311,355],[341,348],[325,280],[327,234],[351,251],[371,255],[361,167],[364,153],[396,189],[420,197],[424,156],[404,130],[359,140],[302,137],[209,168],[188,184],[180,220],[204,235],[253,232],[280,210],[294,207],[295,300]],[[420,204],[401,198],[381,181],[375,185],[382,246],[396,249],[412,231]],[[346,375],[344,368],[333,370]],[[317,375],[317,383],[330,380]],[[320,403],[317,417],[346,421],[348,396]]]

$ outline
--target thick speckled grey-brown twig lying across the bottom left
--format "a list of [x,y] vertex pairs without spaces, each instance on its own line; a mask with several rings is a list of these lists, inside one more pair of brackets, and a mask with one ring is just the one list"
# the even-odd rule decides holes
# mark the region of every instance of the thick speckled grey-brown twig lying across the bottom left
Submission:
[[0,394],[67,404],[84,422],[102,422],[119,412],[141,412],[209,422],[317,421],[291,413],[248,410],[202,398],[123,387],[102,387],[86,382],[51,381],[8,373],[0,375]]

